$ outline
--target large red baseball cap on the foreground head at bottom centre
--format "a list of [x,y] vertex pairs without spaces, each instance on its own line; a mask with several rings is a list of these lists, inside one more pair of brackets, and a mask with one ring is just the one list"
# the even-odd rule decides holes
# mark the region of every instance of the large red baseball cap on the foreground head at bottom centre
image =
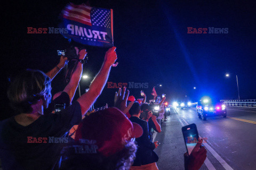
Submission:
[[78,125],[75,140],[80,143],[92,141],[97,152],[108,157],[121,151],[126,141],[139,138],[142,133],[139,124],[132,123],[123,112],[111,107],[85,117]]

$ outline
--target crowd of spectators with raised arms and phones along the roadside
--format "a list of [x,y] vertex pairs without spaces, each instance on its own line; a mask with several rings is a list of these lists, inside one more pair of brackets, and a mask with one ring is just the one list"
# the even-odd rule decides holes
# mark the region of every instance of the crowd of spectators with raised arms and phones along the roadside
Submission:
[[[52,98],[51,81],[65,66],[67,58],[50,72],[26,70],[17,75],[7,91],[10,105],[19,114],[0,122],[0,159],[3,169],[158,169],[152,132],[160,133],[161,116],[153,115],[153,105],[119,89],[114,107],[95,112],[89,109],[101,95],[113,66],[116,47],[109,48],[90,89],[76,101],[83,62],[78,62],[63,91]],[[87,54],[77,50],[79,60]],[[53,87],[54,88],[54,87]],[[113,94],[114,96],[114,94]],[[52,100],[52,101],[51,101]],[[163,102],[158,102],[164,115]],[[63,109],[55,113],[55,105]],[[166,118],[166,117],[165,117]],[[206,150],[197,143],[184,154],[183,169],[199,169]],[[181,169],[182,169],[181,168]]]

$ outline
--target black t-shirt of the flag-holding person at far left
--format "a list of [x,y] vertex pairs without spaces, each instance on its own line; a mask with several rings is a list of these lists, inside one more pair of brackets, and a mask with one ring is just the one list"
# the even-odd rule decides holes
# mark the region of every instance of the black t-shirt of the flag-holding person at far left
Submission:
[[[68,95],[62,92],[60,98],[65,96]],[[14,117],[1,121],[0,158],[3,169],[52,169],[68,141],[65,135],[81,121],[81,107],[77,101],[59,113],[40,116],[28,126],[18,124]]]

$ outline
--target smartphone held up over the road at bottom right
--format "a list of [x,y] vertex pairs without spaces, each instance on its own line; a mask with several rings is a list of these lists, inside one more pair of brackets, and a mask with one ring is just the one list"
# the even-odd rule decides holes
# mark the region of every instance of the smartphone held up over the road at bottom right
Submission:
[[196,144],[199,142],[199,135],[197,132],[196,124],[189,124],[182,127],[183,138],[188,151],[188,155],[191,154]]

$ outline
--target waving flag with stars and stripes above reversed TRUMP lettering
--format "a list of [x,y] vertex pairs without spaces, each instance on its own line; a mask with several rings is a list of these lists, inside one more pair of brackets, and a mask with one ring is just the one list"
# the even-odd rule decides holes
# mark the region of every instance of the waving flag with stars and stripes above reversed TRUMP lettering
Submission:
[[113,10],[68,4],[61,12],[65,38],[90,46],[113,46]]

